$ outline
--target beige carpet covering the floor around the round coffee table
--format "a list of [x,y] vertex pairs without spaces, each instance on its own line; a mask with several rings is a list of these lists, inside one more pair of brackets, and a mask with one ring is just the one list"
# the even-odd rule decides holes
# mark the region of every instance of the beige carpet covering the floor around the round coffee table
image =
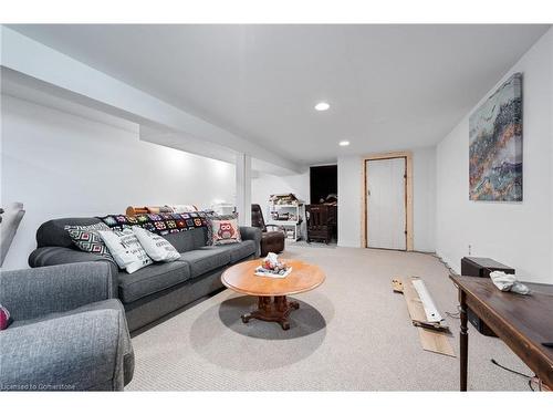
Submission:
[[[458,390],[459,359],[426,352],[393,276],[424,278],[438,309],[456,312],[457,292],[434,257],[353,248],[288,247],[327,279],[295,295],[291,329],[240,321],[253,299],[226,290],[135,336],[129,391],[445,391]],[[447,318],[458,353],[459,320]],[[530,374],[498,339],[469,330],[469,388],[528,391]]]

